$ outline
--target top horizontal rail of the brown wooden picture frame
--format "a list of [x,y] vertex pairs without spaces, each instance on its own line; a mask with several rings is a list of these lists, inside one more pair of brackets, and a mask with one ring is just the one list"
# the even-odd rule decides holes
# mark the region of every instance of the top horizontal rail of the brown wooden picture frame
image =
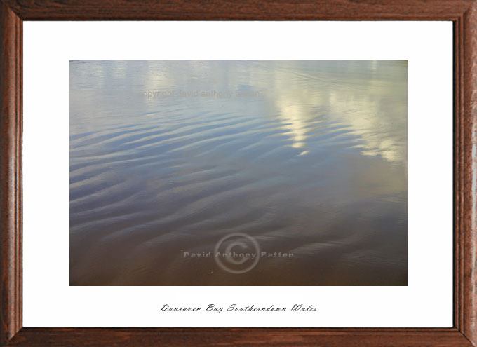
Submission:
[[470,0],[24,0],[22,20],[451,20]]

